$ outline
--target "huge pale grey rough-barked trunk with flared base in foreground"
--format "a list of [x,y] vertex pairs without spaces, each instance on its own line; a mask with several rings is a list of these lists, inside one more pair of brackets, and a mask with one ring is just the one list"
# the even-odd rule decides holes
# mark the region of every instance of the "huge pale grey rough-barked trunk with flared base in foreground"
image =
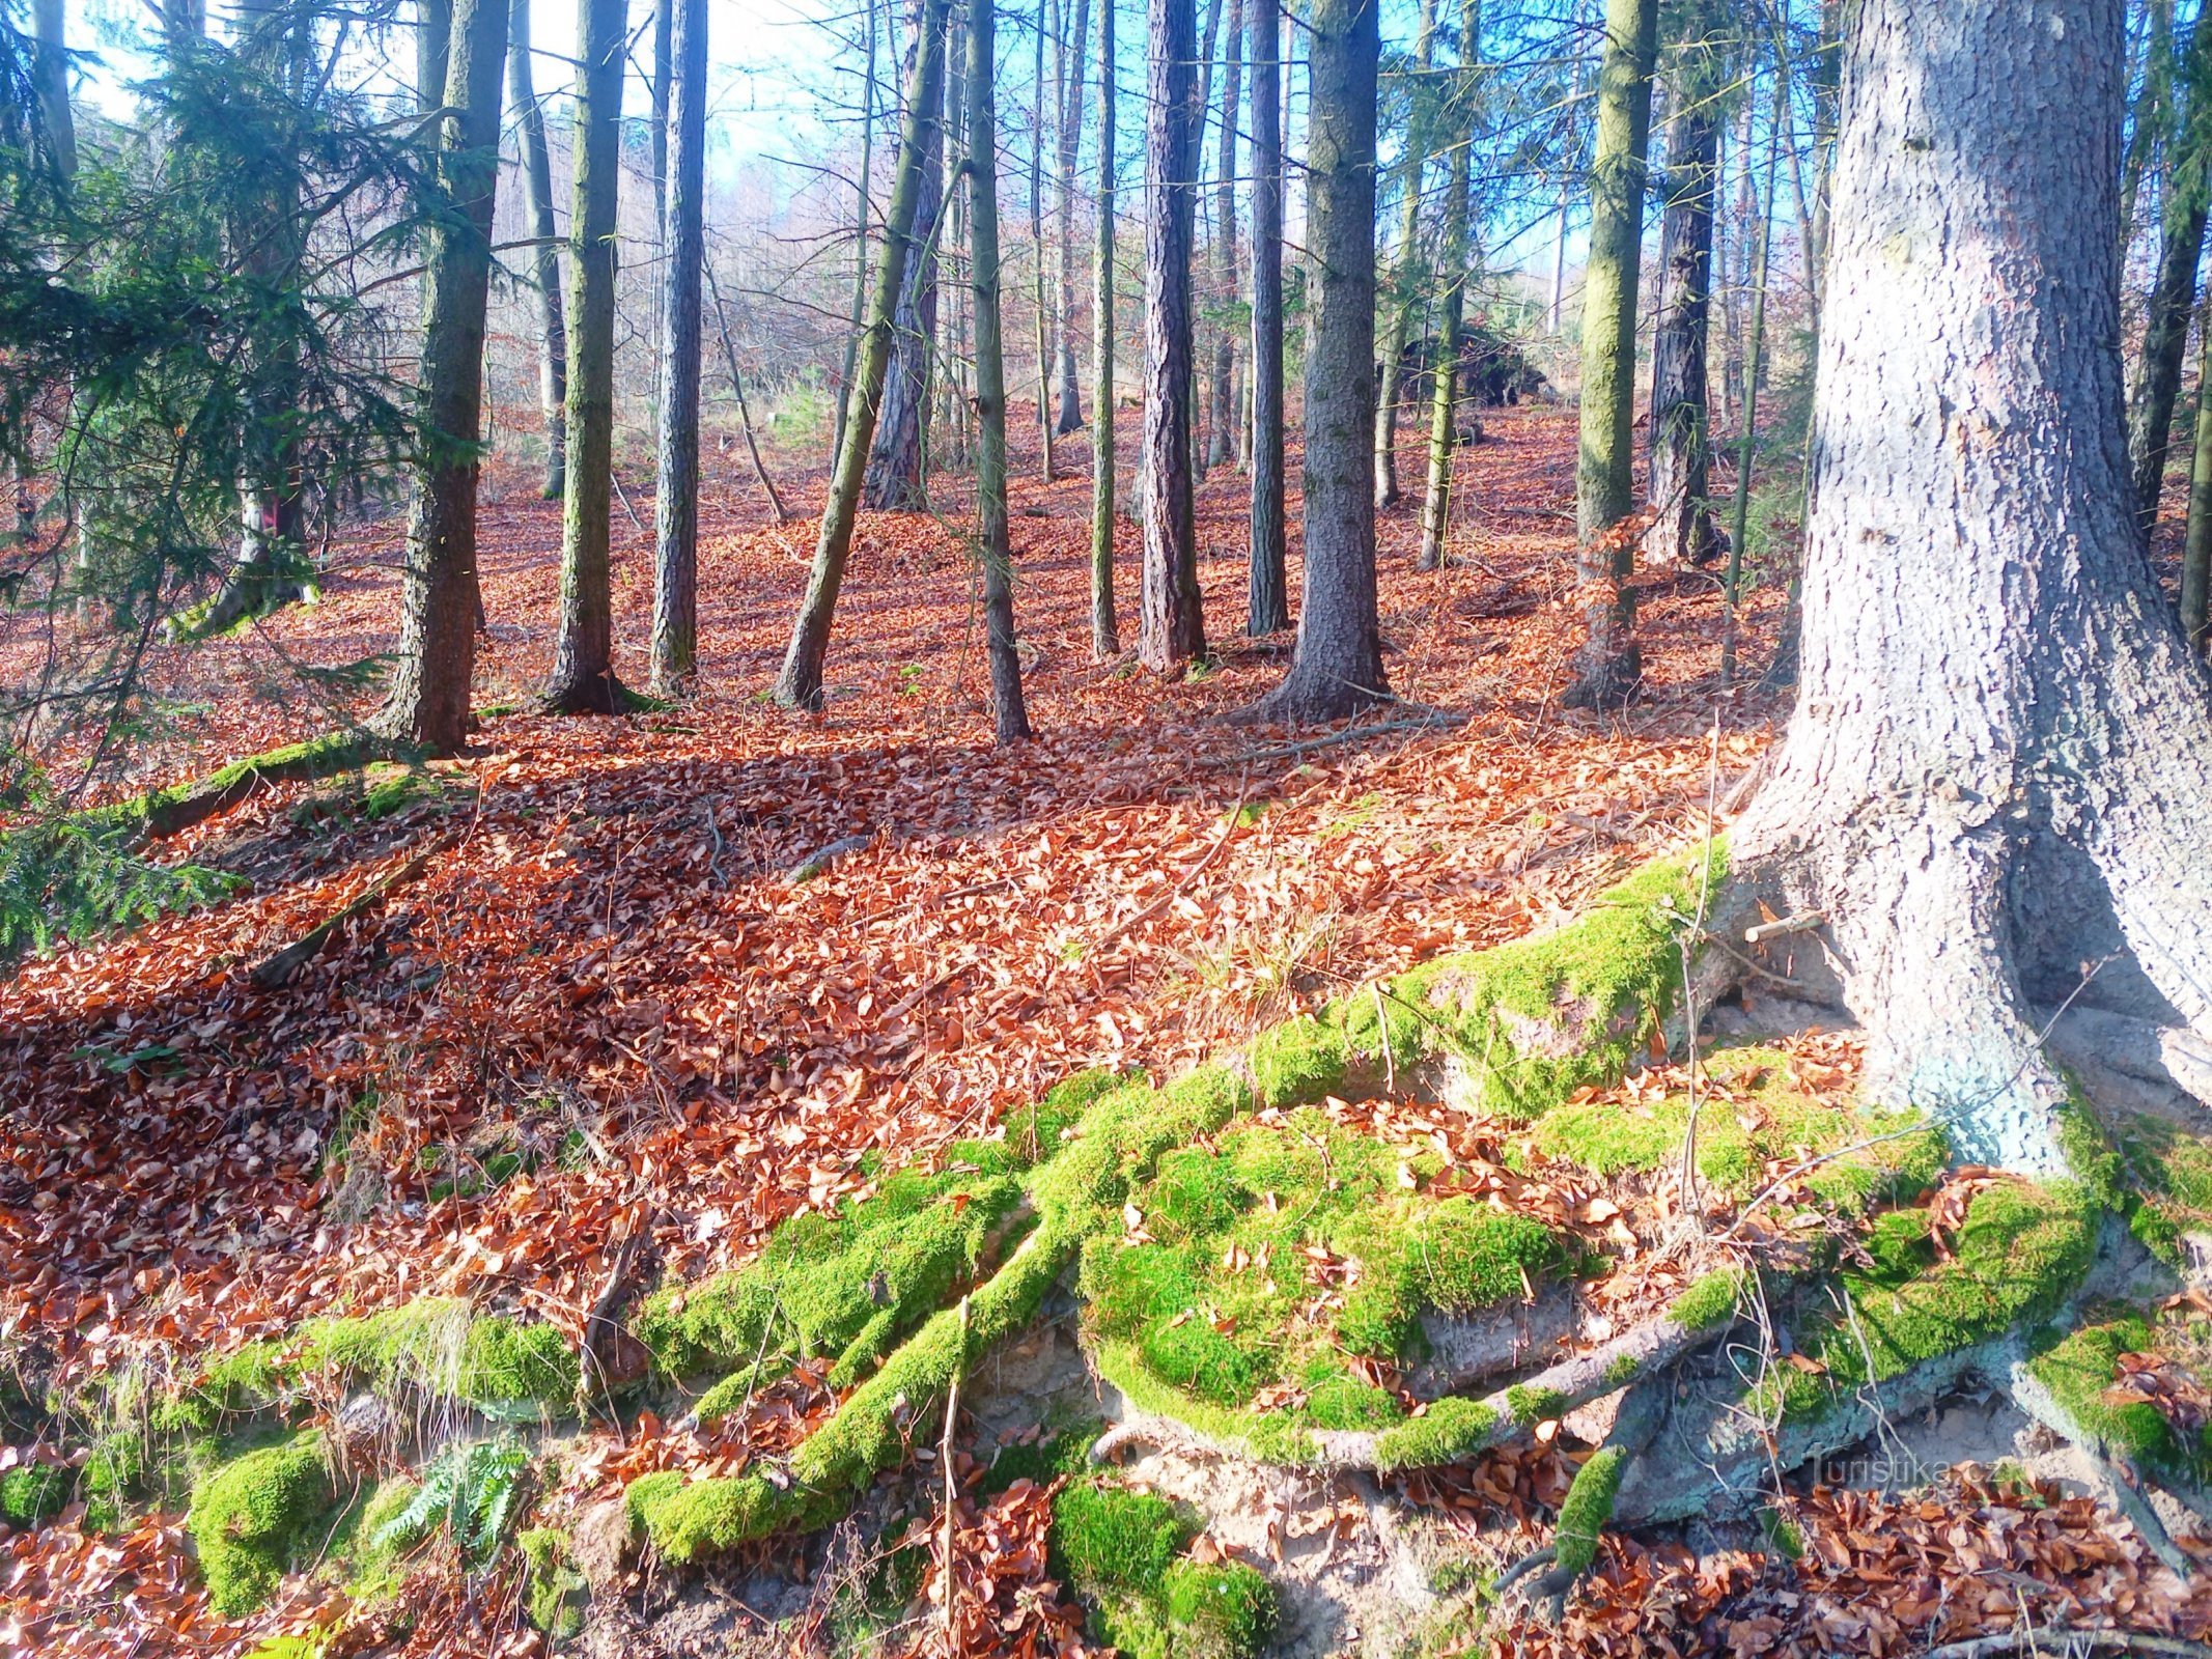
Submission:
[[1860,4],[1803,681],[1730,845],[1745,902],[1829,918],[1871,1086],[2044,1172],[2035,1006],[2212,1031],[2212,714],[2119,420],[2121,13]]

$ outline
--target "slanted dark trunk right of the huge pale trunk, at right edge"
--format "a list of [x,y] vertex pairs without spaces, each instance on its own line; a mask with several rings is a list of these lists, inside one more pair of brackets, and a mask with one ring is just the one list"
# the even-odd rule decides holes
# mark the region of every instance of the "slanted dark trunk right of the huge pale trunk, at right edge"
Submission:
[[2212,7],[2197,13],[2183,62],[2181,119],[2174,128],[2159,215],[2159,274],[2143,310],[2143,361],[2128,409],[2135,511],[2146,535],[2159,522],[2159,495],[2166,491],[2166,449],[2172,442],[2190,312],[2197,310],[2205,210],[2212,206],[2212,80],[2208,77],[2212,77]]

